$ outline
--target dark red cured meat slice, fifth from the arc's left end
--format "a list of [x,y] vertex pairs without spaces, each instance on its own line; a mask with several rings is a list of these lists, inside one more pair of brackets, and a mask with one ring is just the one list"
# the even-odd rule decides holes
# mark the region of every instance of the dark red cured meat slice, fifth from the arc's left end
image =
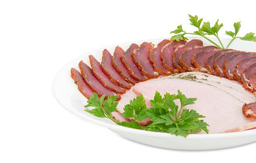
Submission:
[[124,80],[131,83],[132,85],[135,85],[136,83],[138,83],[138,81],[128,73],[127,69],[124,67],[123,63],[121,62],[121,56],[123,52],[124,50],[121,47],[117,46],[115,48],[112,65]]

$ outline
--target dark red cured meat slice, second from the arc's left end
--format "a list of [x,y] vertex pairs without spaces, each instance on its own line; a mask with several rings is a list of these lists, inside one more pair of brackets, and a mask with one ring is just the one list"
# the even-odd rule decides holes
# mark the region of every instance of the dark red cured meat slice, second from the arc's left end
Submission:
[[[79,62],[79,68],[86,84],[92,89],[93,92],[99,96],[106,95],[107,98],[110,95],[116,95],[116,93],[102,85],[102,83],[93,75],[92,69],[83,61]],[[117,99],[120,100],[121,96],[117,95]]]

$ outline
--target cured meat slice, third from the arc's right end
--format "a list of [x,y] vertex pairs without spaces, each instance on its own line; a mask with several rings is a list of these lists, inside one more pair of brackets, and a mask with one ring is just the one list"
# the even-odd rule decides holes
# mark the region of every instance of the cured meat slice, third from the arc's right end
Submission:
[[256,57],[247,58],[238,63],[233,72],[235,80],[242,82],[242,73],[253,64],[256,64]]

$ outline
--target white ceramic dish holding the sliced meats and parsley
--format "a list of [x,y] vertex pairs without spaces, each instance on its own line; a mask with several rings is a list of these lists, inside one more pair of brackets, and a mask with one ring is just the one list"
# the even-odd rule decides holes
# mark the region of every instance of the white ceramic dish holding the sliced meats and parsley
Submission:
[[[197,37],[191,37],[194,39]],[[202,38],[200,38],[202,39]],[[157,45],[158,42],[163,39],[146,40]],[[203,40],[203,39],[202,39]],[[227,44],[229,39],[222,39],[224,44]],[[211,45],[208,41],[203,40],[204,45]],[[123,49],[127,49],[131,43],[141,44],[143,41],[135,41],[118,44]],[[111,53],[114,52],[114,48],[117,45],[106,47]],[[256,43],[249,41],[234,41],[230,48],[243,51],[256,52]],[[86,104],[86,98],[78,91],[77,85],[74,84],[70,77],[70,69],[72,67],[78,69],[78,62],[83,60],[85,63],[89,63],[88,55],[93,56],[101,61],[101,55],[104,48],[86,53],[75,60],[65,65],[56,75],[53,82],[53,92],[57,101],[68,111],[77,115],[87,121],[96,123],[101,126],[105,126],[113,132],[133,140],[135,142],[148,144],[161,148],[168,149],[183,149],[183,150],[206,150],[206,149],[222,149],[228,147],[239,146],[256,141],[256,129],[223,133],[223,134],[208,134],[208,135],[189,135],[186,138],[181,136],[174,136],[167,133],[158,133],[151,131],[144,131],[138,129],[130,129],[114,124],[106,118],[98,118],[84,111],[84,105]],[[90,65],[90,64],[89,64]]]

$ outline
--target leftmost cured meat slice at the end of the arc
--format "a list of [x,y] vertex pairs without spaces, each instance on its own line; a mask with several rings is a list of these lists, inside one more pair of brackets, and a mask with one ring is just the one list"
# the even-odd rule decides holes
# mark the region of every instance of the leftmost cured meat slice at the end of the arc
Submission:
[[71,68],[71,77],[74,82],[78,85],[78,90],[83,94],[87,99],[93,94],[92,89],[86,85],[83,76],[75,68]]

